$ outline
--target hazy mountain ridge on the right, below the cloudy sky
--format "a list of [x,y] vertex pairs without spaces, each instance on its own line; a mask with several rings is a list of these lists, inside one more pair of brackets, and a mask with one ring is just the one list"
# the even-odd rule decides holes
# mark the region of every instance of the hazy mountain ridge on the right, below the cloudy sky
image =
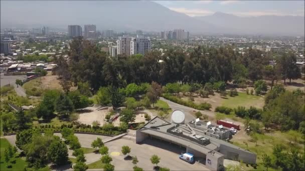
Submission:
[[238,28],[239,33],[304,35],[303,16],[263,15],[241,17],[223,12],[215,12],[213,15],[195,16],[194,18],[212,23],[216,26]]

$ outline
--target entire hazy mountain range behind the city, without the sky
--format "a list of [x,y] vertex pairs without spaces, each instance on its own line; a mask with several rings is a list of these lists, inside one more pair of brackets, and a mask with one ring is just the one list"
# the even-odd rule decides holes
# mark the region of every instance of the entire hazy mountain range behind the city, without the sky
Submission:
[[67,28],[96,24],[97,29],[195,33],[304,35],[303,16],[240,17],[216,12],[188,16],[153,1],[1,1],[1,28],[12,26]]

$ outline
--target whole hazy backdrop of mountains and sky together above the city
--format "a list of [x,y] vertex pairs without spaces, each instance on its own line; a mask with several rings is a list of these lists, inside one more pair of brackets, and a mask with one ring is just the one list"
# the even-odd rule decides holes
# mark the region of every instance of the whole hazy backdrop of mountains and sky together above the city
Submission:
[[84,24],[96,24],[99,30],[116,31],[161,31],[183,28],[192,33],[302,36],[303,4],[304,1],[287,0],[272,3],[238,0],[1,0],[1,28],[32,28],[45,25],[67,29],[69,24],[82,27]]

